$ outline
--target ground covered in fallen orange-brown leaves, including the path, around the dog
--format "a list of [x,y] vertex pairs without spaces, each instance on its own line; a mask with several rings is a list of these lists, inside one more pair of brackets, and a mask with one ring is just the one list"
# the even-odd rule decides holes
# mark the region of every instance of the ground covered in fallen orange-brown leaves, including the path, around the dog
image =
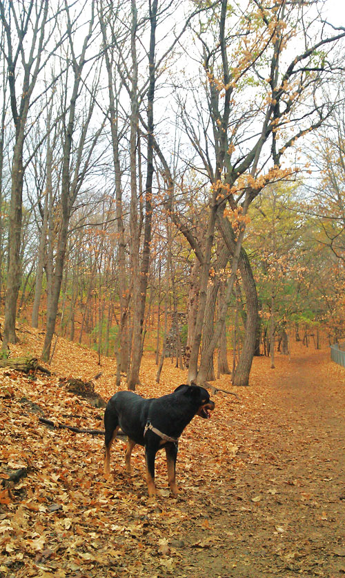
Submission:
[[[11,357],[39,354],[43,335],[21,327]],[[179,443],[179,498],[164,452],[157,501],[148,500],[144,452],[124,474],[124,443],[103,478],[103,439],[57,424],[101,428],[103,410],[66,391],[59,377],[115,392],[115,362],[59,339],[52,376],[1,369],[1,578],[284,578],[345,575],[345,369],[329,348],[293,344],[277,368],[255,359],[238,399],[218,393],[210,420],[195,418]],[[138,393],[158,396],[185,380],[169,360],[155,384],[146,355]],[[232,389],[227,376],[216,383]],[[123,389],[126,384],[123,384]],[[6,478],[20,467],[28,475]]]

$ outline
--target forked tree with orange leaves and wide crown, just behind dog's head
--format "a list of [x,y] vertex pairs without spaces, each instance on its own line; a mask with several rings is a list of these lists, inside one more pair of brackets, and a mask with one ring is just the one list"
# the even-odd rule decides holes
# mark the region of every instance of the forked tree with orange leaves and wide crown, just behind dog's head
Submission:
[[[181,99],[180,104],[184,128],[210,180],[210,197],[204,247],[197,248],[178,207],[173,216],[181,232],[188,232],[187,238],[201,260],[199,309],[188,381],[202,383],[206,379],[210,356],[225,321],[250,203],[267,183],[289,174],[281,168],[286,149],[319,127],[330,113],[319,88],[335,74],[334,59],[339,57],[333,48],[345,31],[328,27],[327,36],[321,23],[318,31],[317,15],[313,18],[305,13],[314,5],[249,0],[246,10],[237,13],[233,5],[221,0],[208,5],[209,26],[202,19],[193,23],[207,79],[208,115],[197,100],[193,113],[188,98]],[[170,201],[172,210],[172,196]],[[218,215],[230,220],[236,246],[224,307],[198,369]]]

